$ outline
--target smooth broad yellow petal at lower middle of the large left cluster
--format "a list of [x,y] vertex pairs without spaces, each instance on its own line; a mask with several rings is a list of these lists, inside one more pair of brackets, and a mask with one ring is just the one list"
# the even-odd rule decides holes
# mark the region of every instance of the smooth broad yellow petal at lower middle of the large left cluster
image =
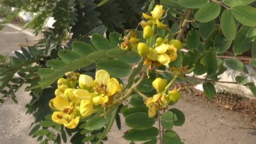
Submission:
[[79,110],[82,117],[88,117],[93,113],[93,101],[91,99],[83,99]]

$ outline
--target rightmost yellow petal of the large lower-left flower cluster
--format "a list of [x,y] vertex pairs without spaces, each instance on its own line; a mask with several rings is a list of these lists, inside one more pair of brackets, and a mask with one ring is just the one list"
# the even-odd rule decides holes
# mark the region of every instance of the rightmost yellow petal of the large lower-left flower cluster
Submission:
[[121,90],[122,88],[119,85],[118,80],[115,78],[111,78],[107,84],[107,96],[112,96]]

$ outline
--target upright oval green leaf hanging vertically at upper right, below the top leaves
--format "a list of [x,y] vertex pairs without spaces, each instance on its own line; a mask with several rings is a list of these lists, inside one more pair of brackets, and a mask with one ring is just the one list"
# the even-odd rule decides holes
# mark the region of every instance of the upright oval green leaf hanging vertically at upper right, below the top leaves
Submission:
[[237,32],[235,19],[229,9],[223,11],[221,15],[221,30],[228,40],[234,40]]

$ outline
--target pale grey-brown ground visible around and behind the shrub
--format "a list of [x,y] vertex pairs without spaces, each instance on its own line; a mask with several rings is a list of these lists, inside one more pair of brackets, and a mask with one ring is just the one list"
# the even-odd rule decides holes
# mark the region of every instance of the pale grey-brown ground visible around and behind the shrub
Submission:
[[[19,50],[21,45],[34,43],[39,37],[20,33],[6,26],[0,31],[0,54],[11,54]],[[32,115],[26,115],[25,104],[30,101],[28,92],[22,87],[17,93],[18,104],[8,99],[0,107],[0,144],[38,144],[36,139],[28,135],[34,121]],[[224,108],[216,107],[200,96],[183,91],[180,101],[174,105],[186,116],[181,127],[175,127],[185,144],[255,144],[256,129],[246,115]],[[129,128],[124,125],[122,130],[114,127],[108,134],[106,144],[129,144],[122,135]]]

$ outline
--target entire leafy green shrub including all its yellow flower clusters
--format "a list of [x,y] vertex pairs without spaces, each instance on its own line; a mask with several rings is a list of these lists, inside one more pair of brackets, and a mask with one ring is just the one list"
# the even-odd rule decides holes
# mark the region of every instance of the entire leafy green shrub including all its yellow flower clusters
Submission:
[[[1,57],[1,69],[5,72],[1,76],[5,77],[1,79],[0,88],[8,87],[9,91],[5,89],[2,93],[15,99],[14,93],[20,87],[17,84],[30,84],[27,90],[31,91],[33,99],[27,107],[35,116],[30,135],[42,143],[60,143],[61,138],[66,142],[67,133],[72,136],[71,143],[91,141],[99,144],[107,140],[114,122],[121,129],[120,115],[123,115],[125,124],[131,128],[123,138],[131,143],[181,144],[172,128],[183,125],[185,120],[184,114],[173,108],[181,97],[179,91],[183,83],[191,79],[204,81],[203,89],[209,99],[216,93],[214,83],[246,85],[256,94],[255,84],[246,80],[255,73],[249,74],[245,67],[245,64],[256,67],[254,1],[160,0],[161,5],[155,0],[144,1],[142,4],[149,11],[142,13],[143,21],[137,19],[133,23],[141,25],[138,29],[127,26],[128,19],[132,18],[128,13],[119,15],[120,23],[106,20],[104,8],[122,2],[103,0],[100,7],[91,11],[101,11],[102,17],[96,14],[77,19],[74,13],[86,15],[91,10],[88,5],[95,4],[88,4],[86,0],[64,0],[61,2],[67,2],[70,8],[62,11],[54,6],[62,4],[53,1],[52,9],[44,9],[41,14],[45,15],[40,14],[35,19],[57,17],[58,11],[68,19],[61,24],[61,19],[56,18],[52,33],[45,32],[45,39],[28,47],[29,51],[22,48],[23,53],[16,52],[17,57],[10,57],[9,61]],[[130,2],[125,0],[125,3]],[[136,14],[142,12],[139,9]],[[121,11],[126,8],[118,9]],[[101,17],[102,21],[96,17]],[[109,27],[107,31],[101,26],[103,23]],[[81,28],[83,24],[91,29]],[[28,25],[41,27],[35,25],[35,21]],[[133,29],[123,32],[120,29],[124,27]],[[117,32],[112,32],[114,29]],[[66,47],[61,47],[67,32],[73,32],[72,39]],[[102,36],[104,33],[107,38]],[[249,50],[252,58],[239,56]],[[34,62],[37,65],[32,65]],[[131,69],[131,64],[137,67]],[[219,81],[219,75],[227,67],[248,75],[237,76],[234,82]],[[13,78],[15,72],[23,78]],[[205,74],[205,78],[189,76],[192,72]],[[121,78],[124,77],[128,77],[127,83],[123,83]],[[9,81],[17,84],[11,85]],[[157,127],[154,126],[156,121]]]

